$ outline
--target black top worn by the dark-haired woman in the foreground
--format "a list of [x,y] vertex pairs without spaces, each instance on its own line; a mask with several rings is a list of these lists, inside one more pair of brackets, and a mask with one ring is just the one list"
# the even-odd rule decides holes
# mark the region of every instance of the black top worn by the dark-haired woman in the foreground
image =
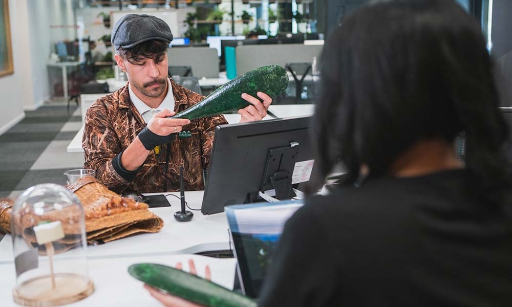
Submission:
[[468,170],[368,180],[286,223],[261,306],[511,306],[512,204]]

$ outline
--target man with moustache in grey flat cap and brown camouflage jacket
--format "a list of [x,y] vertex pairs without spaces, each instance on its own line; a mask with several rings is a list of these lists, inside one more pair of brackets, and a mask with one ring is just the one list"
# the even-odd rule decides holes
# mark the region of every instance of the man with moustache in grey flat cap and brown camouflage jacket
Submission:
[[[178,85],[167,75],[169,26],[155,16],[128,14],[112,31],[115,60],[128,82],[88,109],[82,147],[84,167],[109,189],[124,193],[179,190],[184,165],[186,190],[202,190],[215,127],[222,115],[195,120],[167,118],[204,96]],[[241,109],[241,122],[261,120],[272,99],[243,94],[251,105]],[[180,134],[180,132],[182,132]],[[186,132],[186,133],[185,133]]]

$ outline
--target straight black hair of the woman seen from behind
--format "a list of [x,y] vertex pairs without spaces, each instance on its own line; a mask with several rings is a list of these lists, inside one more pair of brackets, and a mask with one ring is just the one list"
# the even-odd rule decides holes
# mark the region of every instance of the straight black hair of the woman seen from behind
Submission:
[[360,9],[327,40],[321,75],[314,131],[322,179],[340,162],[347,185],[364,164],[383,176],[416,142],[453,142],[464,131],[474,191],[490,198],[510,186],[494,63],[476,20],[454,1]]

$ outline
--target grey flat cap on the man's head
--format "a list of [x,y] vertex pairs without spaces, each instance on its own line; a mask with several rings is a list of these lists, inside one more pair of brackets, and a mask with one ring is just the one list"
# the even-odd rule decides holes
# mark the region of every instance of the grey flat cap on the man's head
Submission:
[[153,39],[167,43],[173,40],[173,33],[165,21],[146,14],[127,14],[114,25],[111,42],[118,50],[120,47],[133,48]]

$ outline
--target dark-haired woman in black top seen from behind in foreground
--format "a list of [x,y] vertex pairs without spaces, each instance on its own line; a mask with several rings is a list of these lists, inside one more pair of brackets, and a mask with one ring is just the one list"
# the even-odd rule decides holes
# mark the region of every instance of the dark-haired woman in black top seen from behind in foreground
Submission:
[[475,20],[454,1],[380,2],[322,63],[315,163],[348,173],[287,222],[260,305],[509,306],[508,129]]

